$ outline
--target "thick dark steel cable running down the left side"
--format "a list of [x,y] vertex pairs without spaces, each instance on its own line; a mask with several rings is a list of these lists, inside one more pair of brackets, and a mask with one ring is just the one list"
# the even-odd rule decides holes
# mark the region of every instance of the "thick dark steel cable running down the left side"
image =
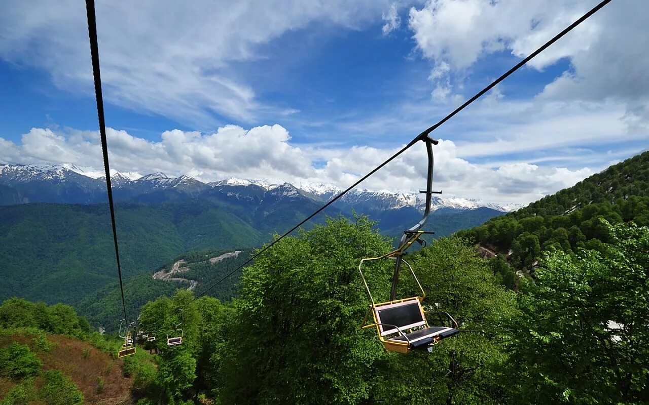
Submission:
[[115,259],[117,262],[117,275],[119,275],[119,290],[121,291],[122,309],[124,320],[129,325],[124,301],[124,286],[121,279],[121,264],[119,263],[119,245],[117,244],[117,227],[115,226],[115,207],[113,205],[113,190],[110,185],[110,166],[108,165],[108,143],[106,143],[106,122],[104,120],[104,99],[101,94],[101,75],[99,73],[99,45],[97,43],[97,21],[95,20],[95,1],[86,0],[88,13],[88,36],[90,36],[90,56],[92,58],[92,75],[95,80],[95,98],[97,99],[97,117],[99,117],[99,135],[101,136],[101,150],[104,156],[104,171],[106,172],[106,191],[108,192],[108,208],[110,209],[110,224],[113,228],[113,242],[115,244]]

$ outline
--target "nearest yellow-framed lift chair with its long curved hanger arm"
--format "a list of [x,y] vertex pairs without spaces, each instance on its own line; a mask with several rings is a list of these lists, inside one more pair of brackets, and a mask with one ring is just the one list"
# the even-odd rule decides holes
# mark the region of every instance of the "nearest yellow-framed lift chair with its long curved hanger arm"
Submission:
[[[421,238],[424,234],[432,234],[433,232],[422,231],[422,227],[428,220],[430,214],[430,207],[432,202],[432,194],[441,194],[441,191],[432,191],[433,179],[433,150],[432,145],[437,145],[437,141],[431,139],[426,134],[422,134],[416,141],[422,140],[426,143],[426,152],[428,153],[428,178],[426,179],[426,207],[424,216],[415,226],[410,227],[404,231],[401,237],[399,246],[394,251],[386,253],[380,257],[369,257],[362,259],[358,264],[358,271],[360,272],[361,279],[367,290],[370,301],[372,302],[361,327],[363,329],[376,328],[378,339],[383,343],[384,347],[389,351],[398,353],[408,353],[413,349],[425,349],[429,352],[432,347],[440,340],[450,338],[459,333],[458,323],[447,312],[428,311],[424,310],[421,303],[426,297],[426,292],[419,283],[417,275],[412,270],[412,267],[406,260],[403,259],[406,249],[417,242],[422,247],[426,246],[426,242]],[[375,303],[372,297],[372,292],[367,285],[365,275],[363,275],[362,266],[364,262],[371,260],[393,259],[395,260],[395,271],[392,279],[392,288],[390,292],[390,301],[384,303]],[[400,268],[402,264],[406,264],[410,269],[410,273],[417,282],[421,295],[415,297],[408,297],[404,299],[397,299],[397,284],[399,279]],[[367,324],[369,314],[372,314],[374,323]],[[437,315],[439,323],[430,325],[426,315]],[[444,319],[445,318],[445,319]]]

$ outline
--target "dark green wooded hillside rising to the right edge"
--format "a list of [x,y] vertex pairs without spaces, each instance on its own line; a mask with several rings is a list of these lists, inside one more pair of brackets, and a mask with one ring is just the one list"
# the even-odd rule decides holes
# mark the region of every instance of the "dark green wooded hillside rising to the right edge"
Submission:
[[502,253],[512,249],[511,261],[520,267],[544,250],[602,249],[610,235],[598,218],[649,225],[649,152],[458,234]]

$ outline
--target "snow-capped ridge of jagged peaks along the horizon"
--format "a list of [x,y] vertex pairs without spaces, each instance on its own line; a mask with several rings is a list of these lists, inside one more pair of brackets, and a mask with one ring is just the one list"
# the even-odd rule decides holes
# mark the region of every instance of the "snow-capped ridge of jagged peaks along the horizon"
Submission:
[[[160,202],[178,198],[214,196],[222,193],[238,200],[278,201],[307,198],[327,202],[342,191],[335,185],[308,181],[292,185],[268,179],[238,179],[230,177],[212,183],[202,183],[190,176],[171,178],[162,172],[140,174],[111,170],[111,180],[117,200]],[[97,203],[105,200],[104,172],[92,167],[69,163],[63,165],[3,165],[0,164],[0,185],[12,187],[25,195],[23,202]],[[340,198],[334,206],[343,211],[385,211],[414,208],[422,211],[425,196],[418,192],[369,191],[354,189]],[[520,208],[516,204],[496,204],[455,196],[433,197],[432,209],[454,210],[486,207],[500,212]]]

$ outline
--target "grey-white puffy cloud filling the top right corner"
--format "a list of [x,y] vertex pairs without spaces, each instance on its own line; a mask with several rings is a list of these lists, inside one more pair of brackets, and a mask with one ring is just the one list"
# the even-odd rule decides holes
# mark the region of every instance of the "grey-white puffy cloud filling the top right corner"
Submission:
[[[450,92],[451,75],[489,54],[509,51],[524,58],[596,5],[596,0],[428,0],[412,7],[408,27],[417,49],[434,62],[430,79]],[[528,65],[545,69],[561,58],[571,68],[548,84],[539,98],[624,105],[630,121],[649,117],[649,3],[619,0],[587,19]]]

